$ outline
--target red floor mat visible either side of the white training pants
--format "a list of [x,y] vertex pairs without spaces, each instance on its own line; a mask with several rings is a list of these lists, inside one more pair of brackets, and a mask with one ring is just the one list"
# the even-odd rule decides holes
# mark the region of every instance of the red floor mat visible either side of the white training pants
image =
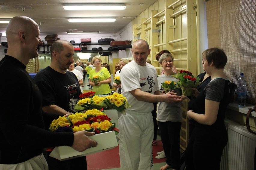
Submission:
[[[165,162],[165,158],[156,159],[157,152],[163,151],[163,144],[161,140],[157,140],[157,145],[153,146],[153,163]],[[96,154],[91,154],[86,156],[87,169],[88,170],[100,170],[100,169],[111,169],[119,168],[119,147],[113,149],[98,152]]]

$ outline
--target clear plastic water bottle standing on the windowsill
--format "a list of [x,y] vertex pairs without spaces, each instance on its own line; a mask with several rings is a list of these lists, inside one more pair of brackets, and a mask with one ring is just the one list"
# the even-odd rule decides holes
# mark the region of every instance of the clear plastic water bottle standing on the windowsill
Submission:
[[246,105],[246,90],[247,90],[244,73],[240,73],[237,87],[238,87],[238,89],[237,89],[238,107],[244,107]]

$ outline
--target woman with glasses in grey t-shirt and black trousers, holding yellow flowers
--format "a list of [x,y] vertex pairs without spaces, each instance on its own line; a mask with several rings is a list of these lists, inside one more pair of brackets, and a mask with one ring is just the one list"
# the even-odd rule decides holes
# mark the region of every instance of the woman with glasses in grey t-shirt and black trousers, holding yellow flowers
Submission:
[[[159,58],[159,63],[164,69],[164,74],[157,78],[158,87],[163,91],[162,84],[165,81],[177,82],[178,79],[172,77],[177,74],[172,70],[173,57],[172,54],[164,53]],[[177,95],[182,95],[181,89],[174,89]],[[185,96],[183,96],[185,97]],[[183,98],[181,97],[181,98]],[[172,168],[173,170],[180,169],[180,130],[182,123],[181,116],[181,101],[180,102],[159,102],[157,107],[157,121],[163,143],[163,150],[166,155],[166,165],[160,169],[165,170]]]

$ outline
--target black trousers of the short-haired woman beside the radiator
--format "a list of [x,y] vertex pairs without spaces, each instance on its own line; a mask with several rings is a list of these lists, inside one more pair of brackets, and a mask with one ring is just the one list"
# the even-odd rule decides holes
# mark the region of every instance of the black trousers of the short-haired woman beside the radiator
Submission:
[[218,128],[196,125],[185,151],[186,170],[219,170],[226,145],[225,125]]

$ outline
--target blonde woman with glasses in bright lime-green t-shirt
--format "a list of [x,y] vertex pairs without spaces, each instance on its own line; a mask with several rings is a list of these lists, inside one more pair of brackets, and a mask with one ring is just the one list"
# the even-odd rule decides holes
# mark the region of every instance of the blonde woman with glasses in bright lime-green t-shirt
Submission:
[[89,85],[93,87],[96,95],[108,95],[111,92],[108,85],[111,82],[110,73],[108,69],[101,66],[100,57],[93,57],[92,62],[95,68],[90,71]]

